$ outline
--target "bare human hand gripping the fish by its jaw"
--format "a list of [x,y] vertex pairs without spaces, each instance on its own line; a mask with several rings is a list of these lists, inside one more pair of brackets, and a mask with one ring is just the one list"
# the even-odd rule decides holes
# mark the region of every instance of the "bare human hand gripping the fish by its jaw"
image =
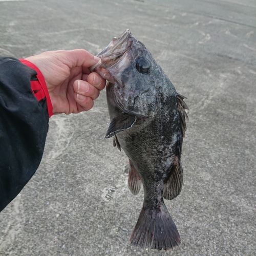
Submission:
[[54,114],[90,110],[105,87],[105,79],[88,69],[99,58],[86,50],[49,51],[26,59],[44,75]]

